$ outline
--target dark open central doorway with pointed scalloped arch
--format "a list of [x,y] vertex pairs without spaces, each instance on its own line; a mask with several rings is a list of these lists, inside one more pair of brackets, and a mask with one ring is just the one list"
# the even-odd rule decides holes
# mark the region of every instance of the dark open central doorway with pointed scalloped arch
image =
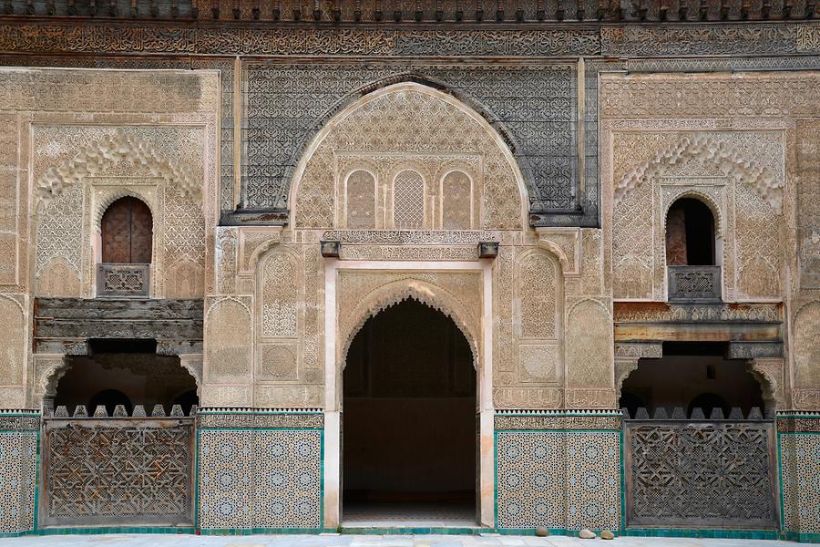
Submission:
[[364,323],[343,371],[345,527],[476,526],[473,363],[456,323],[412,298]]

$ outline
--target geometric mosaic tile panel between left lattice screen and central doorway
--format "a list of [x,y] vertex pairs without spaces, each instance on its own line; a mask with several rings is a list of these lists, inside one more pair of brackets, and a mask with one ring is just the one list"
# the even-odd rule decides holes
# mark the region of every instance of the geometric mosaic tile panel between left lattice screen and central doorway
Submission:
[[200,429],[199,526],[321,529],[322,430]]

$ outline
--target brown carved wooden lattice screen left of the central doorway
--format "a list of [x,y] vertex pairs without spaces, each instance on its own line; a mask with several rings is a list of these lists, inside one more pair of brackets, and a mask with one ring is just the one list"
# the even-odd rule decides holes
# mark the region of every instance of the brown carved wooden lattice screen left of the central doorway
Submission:
[[193,523],[193,418],[44,424],[41,525]]

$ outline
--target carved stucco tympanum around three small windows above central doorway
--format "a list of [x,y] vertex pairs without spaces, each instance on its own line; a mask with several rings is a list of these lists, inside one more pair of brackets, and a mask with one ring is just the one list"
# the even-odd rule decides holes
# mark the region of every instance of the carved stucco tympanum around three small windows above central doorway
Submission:
[[[352,164],[348,155],[360,158],[362,169],[384,165],[385,158],[405,155],[424,163],[422,171],[427,172],[437,172],[454,160],[478,156],[483,168],[477,173],[480,181],[474,181],[474,187],[482,196],[483,219],[473,228],[525,227],[527,191],[504,140],[475,110],[434,88],[415,83],[381,88],[331,119],[295,170],[290,194],[293,227],[342,227],[337,226],[341,215],[335,211],[345,211],[347,206],[334,203],[347,196],[345,180],[337,169],[340,154],[345,156],[346,172],[351,172],[348,169]],[[440,195],[435,199],[440,201]],[[393,204],[380,206],[392,208]]]

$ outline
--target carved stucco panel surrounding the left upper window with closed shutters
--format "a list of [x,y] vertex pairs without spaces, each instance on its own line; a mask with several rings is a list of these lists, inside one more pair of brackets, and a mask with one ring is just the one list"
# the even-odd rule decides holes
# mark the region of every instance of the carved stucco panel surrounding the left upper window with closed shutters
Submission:
[[[36,277],[42,286],[38,291],[93,296],[91,247],[99,221],[110,203],[133,196],[149,205],[154,221],[151,294],[203,294],[205,217],[213,214],[213,207],[203,201],[206,129],[43,123],[32,127],[32,179],[38,200]],[[80,294],[67,265],[77,272]]]

